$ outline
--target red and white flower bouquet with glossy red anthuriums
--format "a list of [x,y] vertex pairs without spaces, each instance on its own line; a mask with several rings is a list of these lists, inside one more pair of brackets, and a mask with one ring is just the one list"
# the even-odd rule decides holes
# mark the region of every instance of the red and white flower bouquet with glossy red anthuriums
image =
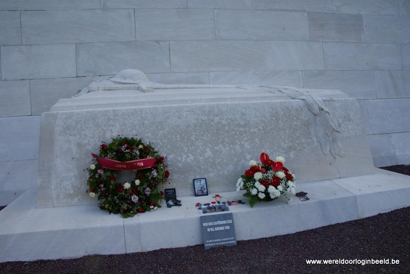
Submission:
[[281,195],[295,194],[295,175],[283,166],[283,157],[278,156],[273,161],[268,154],[262,153],[260,162],[250,161],[250,168],[236,183],[236,191],[246,190],[243,196],[250,197],[251,207],[257,201],[272,201]]

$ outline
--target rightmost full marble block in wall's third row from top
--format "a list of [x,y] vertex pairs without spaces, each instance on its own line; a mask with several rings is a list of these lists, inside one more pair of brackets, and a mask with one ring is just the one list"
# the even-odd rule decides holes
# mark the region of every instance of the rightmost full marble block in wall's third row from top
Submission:
[[401,70],[397,44],[323,42],[326,70]]

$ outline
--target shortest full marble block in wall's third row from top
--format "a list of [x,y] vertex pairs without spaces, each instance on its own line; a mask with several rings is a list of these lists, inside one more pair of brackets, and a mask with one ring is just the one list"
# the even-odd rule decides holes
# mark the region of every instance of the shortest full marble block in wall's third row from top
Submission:
[[268,70],[323,70],[321,42],[265,41]]

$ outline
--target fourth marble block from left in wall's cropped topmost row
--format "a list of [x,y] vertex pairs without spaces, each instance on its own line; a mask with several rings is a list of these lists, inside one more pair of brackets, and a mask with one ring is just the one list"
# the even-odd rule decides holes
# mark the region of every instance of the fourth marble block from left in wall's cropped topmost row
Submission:
[[332,0],[255,0],[257,10],[333,12]]

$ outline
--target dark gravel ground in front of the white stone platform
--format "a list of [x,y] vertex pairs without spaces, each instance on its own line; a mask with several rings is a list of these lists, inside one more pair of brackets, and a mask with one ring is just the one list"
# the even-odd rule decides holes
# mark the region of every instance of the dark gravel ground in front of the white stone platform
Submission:
[[[407,167],[407,170],[408,169]],[[409,173],[407,173],[409,174]],[[409,174],[410,175],[410,174]],[[280,221],[280,220],[278,220]],[[124,255],[0,264],[0,273],[408,273],[410,207],[295,234]],[[306,259],[395,259],[392,264],[308,265]]]

